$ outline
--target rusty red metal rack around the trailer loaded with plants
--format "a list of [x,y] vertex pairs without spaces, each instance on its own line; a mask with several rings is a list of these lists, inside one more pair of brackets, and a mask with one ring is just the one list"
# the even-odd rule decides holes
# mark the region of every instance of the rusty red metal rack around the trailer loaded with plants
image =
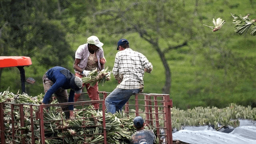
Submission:
[[[86,95],[87,93],[82,93]],[[44,107],[64,106],[73,104],[78,107],[87,107],[92,102],[100,103],[99,111],[102,111],[102,125],[97,125],[101,128],[101,133],[98,135],[104,136],[102,141],[97,143],[107,144],[106,140],[106,123],[105,123],[105,103],[108,92],[100,92],[101,99],[98,101],[80,100],[74,103],[61,104],[12,104],[0,103],[0,144],[47,144],[48,140],[57,139],[62,140],[66,144],[65,135],[48,137],[53,131],[66,131],[68,126],[65,125],[63,112],[47,112]],[[124,112],[127,116],[142,116],[147,126],[156,130],[156,136],[159,138],[159,144],[172,144],[172,122],[171,122],[171,108],[172,100],[166,94],[135,94],[131,96],[129,102],[126,103]],[[26,110],[26,111],[25,111]],[[27,113],[26,113],[27,112]],[[60,117],[58,120],[44,120],[44,114],[53,114]],[[86,123],[87,119],[96,118],[85,116],[83,121]],[[9,121],[7,121],[9,120]],[[54,128],[47,129],[46,124],[54,125]],[[95,125],[83,126],[86,129]],[[78,135],[74,135],[78,136]],[[89,135],[79,135],[84,138]],[[88,144],[90,142],[87,142]],[[86,144],[86,143],[84,143]]]

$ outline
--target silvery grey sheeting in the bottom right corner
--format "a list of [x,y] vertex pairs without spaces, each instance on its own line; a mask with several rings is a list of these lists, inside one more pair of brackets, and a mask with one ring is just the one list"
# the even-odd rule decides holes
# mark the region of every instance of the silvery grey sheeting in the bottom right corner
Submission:
[[[193,128],[193,127],[192,127]],[[194,127],[187,128],[172,134],[173,141],[186,142],[188,144],[256,144],[256,121],[240,120],[240,126],[230,133],[204,130]]]

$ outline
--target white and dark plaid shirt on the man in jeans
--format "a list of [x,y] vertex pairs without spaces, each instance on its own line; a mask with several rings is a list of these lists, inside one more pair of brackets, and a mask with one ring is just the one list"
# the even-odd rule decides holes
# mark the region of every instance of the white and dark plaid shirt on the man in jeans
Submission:
[[153,66],[146,56],[130,48],[116,53],[113,75],[122,82],[117,88],[139,89],[144,87],[144,69],[151,72]]

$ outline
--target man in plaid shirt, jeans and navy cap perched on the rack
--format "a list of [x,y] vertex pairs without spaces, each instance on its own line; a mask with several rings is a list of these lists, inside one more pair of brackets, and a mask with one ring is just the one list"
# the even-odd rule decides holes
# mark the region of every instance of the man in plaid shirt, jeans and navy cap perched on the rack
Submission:
[[118,86],[105,99],[107,112],[112,114],[122,111],[130,96],[140,93],[144,88],[144,72],[151,73],[152,64],[146,56],[129,48],[129,42],[121,39],[117,43],[113,75]]

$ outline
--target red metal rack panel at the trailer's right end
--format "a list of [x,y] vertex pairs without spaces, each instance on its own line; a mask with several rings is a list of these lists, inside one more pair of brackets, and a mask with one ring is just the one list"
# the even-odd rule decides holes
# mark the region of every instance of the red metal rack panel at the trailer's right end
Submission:
[[126,103],[124,111],[142,116],[146,125],[156,129],[160,144],[172,144],[171,108],[172,99],[167,94],[135,94]]

